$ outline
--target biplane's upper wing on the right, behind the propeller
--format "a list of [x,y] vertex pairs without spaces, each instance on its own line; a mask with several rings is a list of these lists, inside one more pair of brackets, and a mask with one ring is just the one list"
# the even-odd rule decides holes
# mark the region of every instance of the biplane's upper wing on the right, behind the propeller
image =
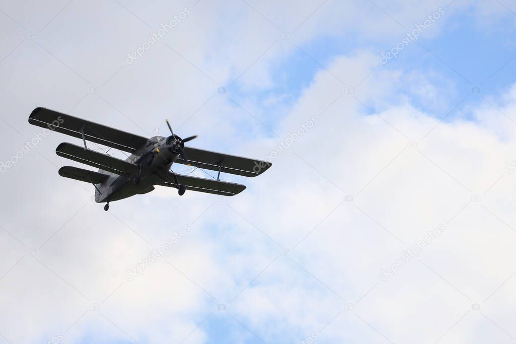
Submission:
[[204,151],[197,148],[185,148],[187,160],[175,162],[192,165],[202,169],[255,177],[271,167],[270,162],[244,158],[241,156]]

